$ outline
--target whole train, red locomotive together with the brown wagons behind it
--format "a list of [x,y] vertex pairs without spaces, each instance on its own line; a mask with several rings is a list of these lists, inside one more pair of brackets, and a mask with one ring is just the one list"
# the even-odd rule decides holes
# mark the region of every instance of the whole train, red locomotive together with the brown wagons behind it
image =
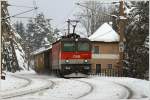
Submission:
[[38,73],[50,72],[61,77],[86,77],[91,71],[91,42],[77,34],[63,36],[52,47],[34,55]]

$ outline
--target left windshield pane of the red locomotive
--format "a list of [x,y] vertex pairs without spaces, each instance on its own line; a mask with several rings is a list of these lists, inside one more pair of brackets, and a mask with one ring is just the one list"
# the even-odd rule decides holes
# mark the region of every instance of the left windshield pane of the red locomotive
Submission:
[[71,43],[71,42],[64,42],[63,43],[63,47],[62,47],[63,51],[75,51],[75,43]]

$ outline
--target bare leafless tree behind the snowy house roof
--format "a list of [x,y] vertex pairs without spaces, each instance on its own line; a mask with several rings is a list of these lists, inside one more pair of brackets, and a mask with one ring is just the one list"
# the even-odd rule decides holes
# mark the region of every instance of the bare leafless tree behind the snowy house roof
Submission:
[[76,17],[85,27],[88,36],[93,34],[103,23],[112,21],[110,15],[114,11],[114,6],[110,4],[102,4],[98,1],[85,1],[77,3],[77,5],[80,6],[81,10]]

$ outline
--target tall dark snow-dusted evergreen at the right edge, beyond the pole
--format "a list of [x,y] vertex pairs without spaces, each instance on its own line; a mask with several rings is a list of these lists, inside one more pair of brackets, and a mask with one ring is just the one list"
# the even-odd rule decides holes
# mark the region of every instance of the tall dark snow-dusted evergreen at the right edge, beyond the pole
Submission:
[[149,68],[149,1],[131,2],[126,12],[125,74],[145,78]]

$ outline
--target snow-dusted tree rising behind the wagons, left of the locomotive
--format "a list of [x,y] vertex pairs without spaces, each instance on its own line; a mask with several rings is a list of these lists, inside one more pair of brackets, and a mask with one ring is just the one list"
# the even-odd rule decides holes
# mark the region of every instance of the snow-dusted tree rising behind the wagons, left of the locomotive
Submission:
[[26,40],[30,41],[32,51],[48,46],[54,41],[50,21],[43,14],[38,14],[35,20],[29,20]]

